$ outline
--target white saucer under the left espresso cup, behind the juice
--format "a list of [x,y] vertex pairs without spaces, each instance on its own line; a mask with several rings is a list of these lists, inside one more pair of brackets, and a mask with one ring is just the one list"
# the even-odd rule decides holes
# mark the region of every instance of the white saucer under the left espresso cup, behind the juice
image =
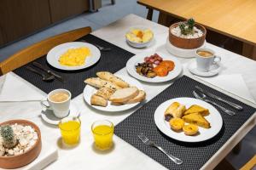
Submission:
[[[69,114],[67,116],[79,116],[79,111],[75,105],[70,105]],[[45,122],[52,125],[58,125],[62,118],[58,118],[54,115],[52,110],[46,110],[41,112],[41,116]]]

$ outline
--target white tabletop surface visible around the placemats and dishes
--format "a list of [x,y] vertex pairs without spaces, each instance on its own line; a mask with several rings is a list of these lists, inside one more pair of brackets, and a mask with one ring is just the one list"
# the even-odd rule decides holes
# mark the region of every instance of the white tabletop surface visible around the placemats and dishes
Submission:
[[[125,31],[131,26],[143,25],[151,28],[154,31],[155,42],[148,48],[150,50],[158,50],[167,53],[165,49],[166,37],[168,35],[168,28],[160,26],[149,20],[138,17],[137,15],[130,14],[125,18],[113,22],[109,26],[103,27],[98,31],[94,31],[92,34],[96,37],[101,37],[108,42],[125,48],[131,53],[138,54],[143,52],[143,49],[135,49],[129,47],[125,42]],[[222,62],[224,64],[224,70],[221,74],[234,74],[241,73],[249,91],[256,99],[256,62],[251,59],[242,57],[241,55],[231,53],[222,48],[218,48],[212,44],[207,43],[208,48],[216,50],[218,54],[222,56]],[[118,56],[122,57],[122,56]],[[192,77],[187,71],[185,65],[190,59],[180,59],[183,63],[183,74]],[[125,68],[118,71],[119,74],[127,75]],[[13,72],[9,74],[14,74]],[[19,77],[18,77],[19,78]],[[3,83],[4,78],[0,77],[0,82]],[[24,81],[19,78],[18,81]],[[15,82],[14,82],[15,83]],[[28,82],[27,86],[32,87]],[[81,82],[84,83],[84,82]],[[154,98],[157,94],[163,91],[165,88],[170,86],[172,82],[160,83],[160,84],[149,84],[143,83],[143,87],[147,92],[147,100]],[[206,82],[207,83],[207,82]],[[1,86],[0,86],[1,87]],[[216,88],[216,87],[213,87]],[[218,89],[218,88],[217,88]],[[219,89],[221,90],[221,89]],[[27,94],[45,94],[38,88],[32,87],[28,90]],[[228,92],[224,92],[229,94]],[[236,94],[230,94],[230,96],[236,97]],[[248,105],[254,105],[246,99],[240,99]],[[137,108],[132,111],[124,111],[119,113],[108,113],[102,111],[96,111],[91,109],[84,103],[82,94],[73,99],[73,103],[79,106],[81,112],[82,131],[80,144],[73,148],[67,149],[61,145],[61,133],[57,127],[50,126],[43,122],[40,117],[41,105],[39,102],[26,102],[26,103],[0,103],[0,116],[1,122],[14,119],[24,118],[31,120],[38,124],[42,132],[42,138],[48,140],[49,143],[54,144],[59,150],[59,159],[50,164],[46,169],[166,169],[158,162],[152,160],[148,156],[144,155],[139,150],[132,147],[122,139],[114,136],[114,148],[107,153],[101,153],[94,150],[92,147],[93,137],[90,132],[90,125],[99,119],[108,119],[114,124],[117,124],[124,120],[127,116],[130,116]],[[246,133],[256,124],[256,114],[254,114],[237,132],[227,141],[224,146],[218,150],[218,152],[207,161],[202,169],[211,169],[215,167],[224,156],[226,156],[230,150],[246,135]]]

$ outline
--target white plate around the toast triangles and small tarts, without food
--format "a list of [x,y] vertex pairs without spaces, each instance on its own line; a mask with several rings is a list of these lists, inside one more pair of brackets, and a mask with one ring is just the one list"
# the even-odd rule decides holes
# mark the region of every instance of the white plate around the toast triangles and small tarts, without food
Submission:
[[[199,127],[199,134],[195,136],[187,136],[183,132],[174,132],[171,129],[169,122],[165,121],[164,113],[166,111],[166,108],[175,101],[186,105],[186,108],[189,108],[190,105],[201,105],[202,107],[207,108],[210,111],[210,115],[205,116],[205,118],[208,122],[211,123],[211,128],[207,129]],[[162,103],[154,112],[154,122],[162,133],[165,133],[168,137],[172,139],[183,142],[201,142],[207,139],[211,139],[218,134],[223,125],[222,116],[220,116],[219,112],[212,105],[200,99],[194,98],[176,98],[167,100],[166,102]]]

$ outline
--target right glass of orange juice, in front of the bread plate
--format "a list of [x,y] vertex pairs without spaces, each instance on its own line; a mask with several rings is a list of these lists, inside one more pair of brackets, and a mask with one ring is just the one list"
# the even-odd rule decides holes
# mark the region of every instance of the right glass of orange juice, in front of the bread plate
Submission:
[[113,123],[107,120],[96,121],[91,125],[94,144],[99,150],[109,150],[113,146]]

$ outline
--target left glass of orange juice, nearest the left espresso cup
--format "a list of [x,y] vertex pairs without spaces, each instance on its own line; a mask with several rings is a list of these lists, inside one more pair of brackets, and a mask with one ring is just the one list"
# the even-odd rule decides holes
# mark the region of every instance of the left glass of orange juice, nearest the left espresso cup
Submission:
[[79,117],[65,117],[59,122],[62,141],[65,144],[78,144],[80,139],[81,121]]

